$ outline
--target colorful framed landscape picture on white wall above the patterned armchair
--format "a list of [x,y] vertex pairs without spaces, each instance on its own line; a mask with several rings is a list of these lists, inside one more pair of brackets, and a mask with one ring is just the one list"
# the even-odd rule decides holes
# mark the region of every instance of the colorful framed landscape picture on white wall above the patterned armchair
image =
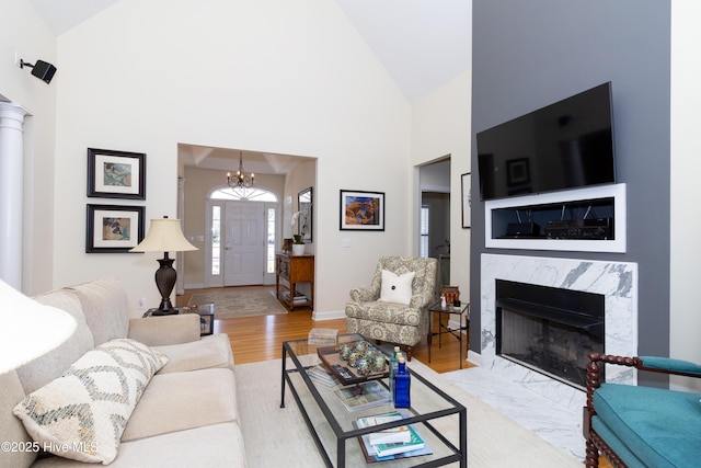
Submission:
[[341,230],[383,231],[384,192],[341,191]]

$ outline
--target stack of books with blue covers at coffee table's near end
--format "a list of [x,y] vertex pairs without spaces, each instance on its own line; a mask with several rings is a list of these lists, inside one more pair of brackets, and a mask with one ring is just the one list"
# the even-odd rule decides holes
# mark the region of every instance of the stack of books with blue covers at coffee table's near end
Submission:
[[[370,427],[399,421],[404,418],[402,413],[395,411],[375,416],[358,418],[356,425],[359,429]],[[429,455],[433,453],[416,431],[416,427],[412,424],[363,435],[360,437],[360,447],[369,463]]]

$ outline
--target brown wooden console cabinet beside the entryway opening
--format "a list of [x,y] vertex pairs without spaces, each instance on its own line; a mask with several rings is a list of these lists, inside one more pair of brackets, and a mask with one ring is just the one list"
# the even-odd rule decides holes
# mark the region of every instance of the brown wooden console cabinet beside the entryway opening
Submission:
[[[298,283],[309,283],[309,297],[295,298]],[[289,310],[295,307],[313,308],[314,305],[314,255],[275,255],[275,294],[277,300]]]

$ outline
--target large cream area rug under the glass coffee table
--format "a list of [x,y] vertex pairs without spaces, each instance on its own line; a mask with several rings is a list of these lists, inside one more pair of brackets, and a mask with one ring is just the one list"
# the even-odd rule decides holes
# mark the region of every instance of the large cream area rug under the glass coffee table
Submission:
[[[410,367],[468,409],[470,468],[582,467],[575,457],[453,386],[421,362],[413,359]],[[238,364],[234,373],[249,466],[323,467],[324,463],[289,389],[286,390],[286,408],[280,408],[280,361]],[[457,425],[446,426],[444,434],[449,438],[456,437]],[[355,441],[347,442],[347,449],[357,449]]]

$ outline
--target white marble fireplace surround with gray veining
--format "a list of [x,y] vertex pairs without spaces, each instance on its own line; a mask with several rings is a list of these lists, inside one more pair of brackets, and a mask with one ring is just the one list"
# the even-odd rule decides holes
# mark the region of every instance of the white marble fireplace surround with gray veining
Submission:
[[[542,256],[481,255],[481,354],[471,356],[501,378],[564,406],[581,410],[585,392],[496,355],[496,279],[596,293],[605,296],[607,354],[637,353],[637,264]],[[630,368],[607,367],[607,381],[636,384]]]

